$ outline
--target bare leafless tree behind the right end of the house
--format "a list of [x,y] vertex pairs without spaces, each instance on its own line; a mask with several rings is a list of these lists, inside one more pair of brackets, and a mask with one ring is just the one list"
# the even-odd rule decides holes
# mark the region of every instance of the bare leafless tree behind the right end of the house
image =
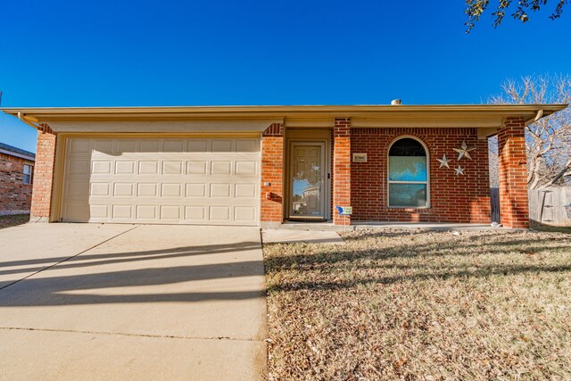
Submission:
[[[569,104],[571,77],[529,76],[519,82],[507,80],[504,94],[490,98],[492,104]],[[552,186],[571,180],[571,109],[567,108],[525,128],[527,186]]]

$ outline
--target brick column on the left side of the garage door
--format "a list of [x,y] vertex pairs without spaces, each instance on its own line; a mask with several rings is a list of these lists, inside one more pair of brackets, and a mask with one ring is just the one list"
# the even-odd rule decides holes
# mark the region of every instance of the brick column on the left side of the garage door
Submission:
[[54,195],[56,136],[46,124],[37,129],[36,163],[34,166],[34,185],[29,220],[31,222],[49,222]]

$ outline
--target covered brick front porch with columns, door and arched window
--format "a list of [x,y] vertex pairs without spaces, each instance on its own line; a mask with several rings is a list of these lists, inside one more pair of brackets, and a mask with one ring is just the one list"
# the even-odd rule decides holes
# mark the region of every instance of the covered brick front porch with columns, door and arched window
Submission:
[[[487,139],[494,135],[501,153],[501,222],[528,228],[526,120],[505,116],[496,128],[491,123],[276,123],[262,134],[261,228],[492,228]],[[468,154],[459,155],[462,150]],[[304,155],[307,160],[298,157]],[[410,168],[416,172],[394,177]],[[338,207],[352,212],[341,215]]]

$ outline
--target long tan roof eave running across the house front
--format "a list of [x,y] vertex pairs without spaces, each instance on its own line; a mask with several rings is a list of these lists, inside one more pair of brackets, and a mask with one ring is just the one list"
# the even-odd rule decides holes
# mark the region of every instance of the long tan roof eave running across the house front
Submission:
[[2,108],[3,112],[49,122],[50,120],[229,120],[268,118],[352,117],[385,119],[466,119],[475,116],[534,118],[564,110],[567,104],[443,104],[443,105],[302,105],[302,106],[170,106],[170,107],[40,107]]

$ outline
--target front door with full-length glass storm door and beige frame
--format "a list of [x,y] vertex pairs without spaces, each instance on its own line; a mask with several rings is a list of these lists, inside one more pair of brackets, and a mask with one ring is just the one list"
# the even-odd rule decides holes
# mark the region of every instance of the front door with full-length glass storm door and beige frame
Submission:
[[290,219],[325,219],[325,144],[291,145]]

